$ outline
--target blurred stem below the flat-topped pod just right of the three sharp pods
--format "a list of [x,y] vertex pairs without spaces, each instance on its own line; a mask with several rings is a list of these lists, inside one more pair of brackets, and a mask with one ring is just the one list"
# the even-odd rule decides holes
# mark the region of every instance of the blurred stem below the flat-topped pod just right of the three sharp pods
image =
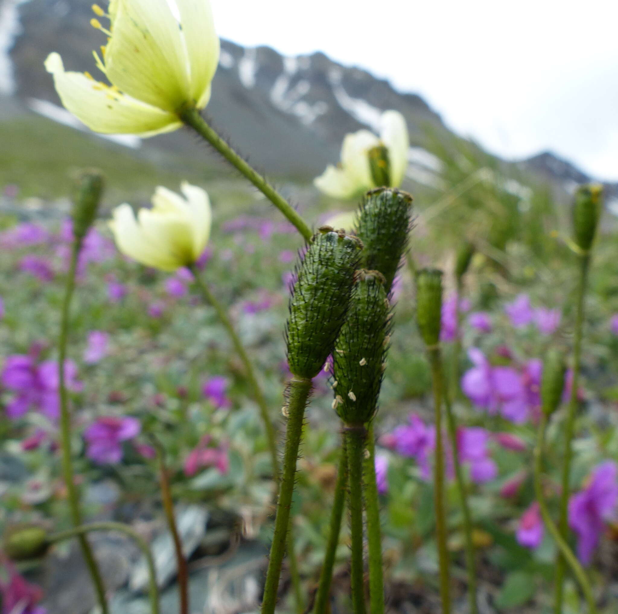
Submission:
[[[440,597],[442,614],[451,612],[451,575],[449,572],[449,550],[447,547],[446,504],[444,502],[444,443],[442,436],[442,393],[444,381],[441,361],[436,360],[436,348],[428,348],[431,377],[433,381],[433,402],[436,423],[436,450],[434,467],[434,499],[436,507],[436,542],[440,575]],[[439,356],[439,354],[438,354]]]

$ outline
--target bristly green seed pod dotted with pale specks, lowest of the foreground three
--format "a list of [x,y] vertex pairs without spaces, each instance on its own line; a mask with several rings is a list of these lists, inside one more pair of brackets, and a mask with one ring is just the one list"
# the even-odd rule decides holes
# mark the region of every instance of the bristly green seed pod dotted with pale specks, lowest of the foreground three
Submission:
[[391,330],[391,305],[378,271],[360,270],[347,320],[332,353],[333,408],[347,425],[373,418]]

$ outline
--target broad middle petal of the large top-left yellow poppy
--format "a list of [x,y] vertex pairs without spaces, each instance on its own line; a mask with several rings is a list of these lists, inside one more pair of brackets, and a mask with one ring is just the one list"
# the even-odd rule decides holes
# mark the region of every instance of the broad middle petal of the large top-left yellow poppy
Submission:
[[174,112],[191,100],[188,70],[180,24],[167,1],[118,0],[105,52],[111,83],[137,100]]

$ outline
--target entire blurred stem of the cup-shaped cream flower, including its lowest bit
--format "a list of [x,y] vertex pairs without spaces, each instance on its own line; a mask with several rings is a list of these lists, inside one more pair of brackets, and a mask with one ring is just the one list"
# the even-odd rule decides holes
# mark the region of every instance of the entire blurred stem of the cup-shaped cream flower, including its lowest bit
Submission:
[[[264,430],[266,431],[266,444],[268,445],[268,452],[271,457],[271,465],[273,465],[274,479],[275,481],[278,481],[280,467],[279,455],[277,454],[277,435],[273,425],[273,421],[270,417],[268,403],[266,402],[266,397],[264,396],[264,392],[262,391],[260,383],[258,382],[258,378],[253,368],[253,363],[249,359],[247,351],[245,350],[245,346],[243,346],[242,341],[240,341],[240,337],[236,333],[234,324],[232,324],[232,320],[227,315],[226,308],[221,304],[221,302],[219,302],[217,297],[214,296],[213,292],[208,287],[208,284],[201,277],[198,268],[195,266],[190,268],[192,270],[193,277],[195,278],[195,283],[197,283],[197,286],[200,289],[202,296],[205,298],[206,302],[208,302],[216,311],[219,322],[221,322],[221,324],[226,329],[226,332],[230,340],[232,341],[232,345],[234,346],[234,350],[238,354],[240,362],[242,362],[243,368],[245,369],[245,376],[247,377],[247,381],[251,388],[253,399],[255,399],[255,402],[258,404],[262,424],[264,426]],[[289,532],[287,537],[287,556],[290,562],[290,576],[292,577],[292,587],[294,589],[295,595],[295,607],[297,612],[300,614],[304,609],[304,600],[302,596],[302,591],[300,590],[300,575],[298,573],[298,563],[296,560],[296,552],[294,549],[294,536],[292,534],[292,531]]]

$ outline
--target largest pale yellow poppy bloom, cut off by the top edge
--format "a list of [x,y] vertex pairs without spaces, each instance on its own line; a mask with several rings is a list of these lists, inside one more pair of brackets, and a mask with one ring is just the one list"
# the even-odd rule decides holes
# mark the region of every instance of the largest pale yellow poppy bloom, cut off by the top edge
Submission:
[[179,128],[183,109],[208,104],[219,62],[210,0],[171,2],[176,15],[167,0],[111,0],[108,14],[93,5],[109,18],[109,30],[91,24],[108,35],[93,53],[111,85],[66,72],[55,52],[45,60],[62,104],[91,130],[153,136]]

